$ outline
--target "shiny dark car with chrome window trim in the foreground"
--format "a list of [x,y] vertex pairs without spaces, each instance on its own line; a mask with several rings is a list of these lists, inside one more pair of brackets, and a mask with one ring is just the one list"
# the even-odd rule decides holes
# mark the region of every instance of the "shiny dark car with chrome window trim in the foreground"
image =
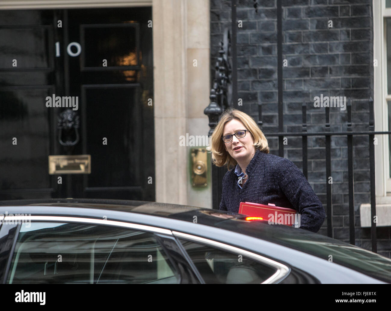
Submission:
[[241,214],[166,203],[0,202],[3,283],[391,283],[391,259]]

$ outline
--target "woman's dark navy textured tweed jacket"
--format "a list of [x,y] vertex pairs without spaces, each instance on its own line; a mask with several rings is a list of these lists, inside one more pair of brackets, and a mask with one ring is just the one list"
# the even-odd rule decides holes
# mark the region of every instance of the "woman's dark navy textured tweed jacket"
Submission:
[[235,170],[228,171],[222,182],[220,210],[238,212],[240,202],[298,210],[300,228],[317,232],[325,219],[325,209],[304,174],[291,161],[256,150],[246,168],[248,180],[239,188]]

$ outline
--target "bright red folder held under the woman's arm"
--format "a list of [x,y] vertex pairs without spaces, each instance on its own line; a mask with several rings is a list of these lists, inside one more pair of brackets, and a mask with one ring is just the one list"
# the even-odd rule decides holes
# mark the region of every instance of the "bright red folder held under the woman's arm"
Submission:
[[271,203],[265,205],[251,202],[240,202],[239,214],[245,214],[252,217],[262,217],[262,220],[268,221],[271,224],[293,226],[296,210],[279,207]]

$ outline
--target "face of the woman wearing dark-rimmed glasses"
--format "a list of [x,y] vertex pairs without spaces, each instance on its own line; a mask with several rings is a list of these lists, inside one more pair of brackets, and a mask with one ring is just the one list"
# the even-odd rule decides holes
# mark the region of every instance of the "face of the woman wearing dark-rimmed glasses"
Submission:
[[[237,119],[232,119],[224,125],[222,136],[233,135],[237,131],[247,129],[242,122]],[[252,158],[255,153],[254,140],[250,132],[246,132],[246,136],[237,138],[235,135],[232,136],[232,140],[228,143],[224,143],[226,151],[236,161],[247,160]]]

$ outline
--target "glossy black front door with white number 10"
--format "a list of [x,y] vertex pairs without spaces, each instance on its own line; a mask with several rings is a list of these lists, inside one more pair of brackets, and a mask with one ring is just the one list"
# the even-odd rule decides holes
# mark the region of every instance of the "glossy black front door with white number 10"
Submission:
[[[0,11],[0,200],[155,200],[151,19]],[[49,174],[52,155],[90,155],[91,172]]]

